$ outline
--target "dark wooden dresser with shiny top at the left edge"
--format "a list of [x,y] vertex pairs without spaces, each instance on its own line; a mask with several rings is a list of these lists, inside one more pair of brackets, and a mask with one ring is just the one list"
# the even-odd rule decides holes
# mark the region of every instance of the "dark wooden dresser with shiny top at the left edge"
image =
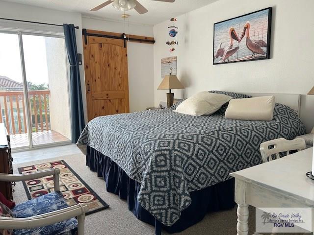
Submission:
[[[7,134],[4,124],[0,123],[0,173],[13,174],[12,162],[10,136]],[[8,200],[12,200],[12,183],[0,182],[0,192]]]

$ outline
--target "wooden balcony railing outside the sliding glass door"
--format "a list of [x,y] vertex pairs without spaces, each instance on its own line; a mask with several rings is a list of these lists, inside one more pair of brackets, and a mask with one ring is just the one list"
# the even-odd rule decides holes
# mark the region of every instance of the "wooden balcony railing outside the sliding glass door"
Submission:
[[[32,132],[50,129],[49,94],[49,90],[28,91]],[[27,133],[23,91],[0,92],[0,111],[0,122],[5,122],[9,134]]]

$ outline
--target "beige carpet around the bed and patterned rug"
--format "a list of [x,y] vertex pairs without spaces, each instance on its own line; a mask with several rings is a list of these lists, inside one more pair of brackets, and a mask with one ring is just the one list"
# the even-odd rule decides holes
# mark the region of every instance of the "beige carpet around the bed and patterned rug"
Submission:
[[[75,154],[44,159],[36,162],[14,164],[14,172],[18,174],[17,167],[47,163],[54,160],[65,160],[78,175],[106,202],[109,208],[86,216],[86,235],[154,235],[155,228],[138,220],[128,210],[126,201],[117,195],[105,190],[105,181],[97,177],[95,172],[85,165],[85,156]],[[27,200],[21,182],[15,187],[14,200],[21,203]],[[255,232],[255,209],[250,208],[249,219],[250,235]],[[167,233],[163,233],[167,234]],[[180,235],[236,235],[236,208],[230,211],[209,213],[198,224],[188,228]]]

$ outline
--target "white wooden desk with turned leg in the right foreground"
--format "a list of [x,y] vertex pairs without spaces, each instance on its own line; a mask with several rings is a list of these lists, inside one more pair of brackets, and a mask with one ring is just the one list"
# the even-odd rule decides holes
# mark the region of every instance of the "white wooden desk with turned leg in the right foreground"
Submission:
[[[230,175],[235,177],[237,235],[248,235],[249,205],[254,207],[314,207],[313,148],[256,165]],[[312,232],[314,232],[312,224]]]

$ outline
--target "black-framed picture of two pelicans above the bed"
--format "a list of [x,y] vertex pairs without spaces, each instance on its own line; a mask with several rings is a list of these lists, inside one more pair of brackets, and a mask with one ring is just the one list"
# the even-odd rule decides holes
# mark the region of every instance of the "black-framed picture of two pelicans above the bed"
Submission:
[[213,65],[269,59],[272,8],[214,24]]

